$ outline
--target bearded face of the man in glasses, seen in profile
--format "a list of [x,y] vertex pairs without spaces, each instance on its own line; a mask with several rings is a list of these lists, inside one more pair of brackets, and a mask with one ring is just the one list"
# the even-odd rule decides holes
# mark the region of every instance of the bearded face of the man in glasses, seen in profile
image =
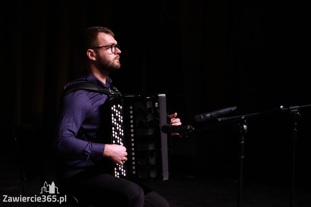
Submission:
[[[98,34],[98,46],[106,46],[112,44],[118,44],[113,36],[106,33]],[[114,70],[118,70],[121,67],[121,63],[119,62],[119,54],[121,50],[117,48],[115,53],[111,52],[111,47],[104,47],[95,49],[96,52],[96,62],[95,65],[99,70],[104,70],[107,72],[111,72]]]

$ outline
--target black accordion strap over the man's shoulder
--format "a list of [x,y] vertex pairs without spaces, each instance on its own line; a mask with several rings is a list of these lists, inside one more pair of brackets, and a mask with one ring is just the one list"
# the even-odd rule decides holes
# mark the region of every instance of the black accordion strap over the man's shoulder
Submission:
[[86,90],[86,91],[97,92],[97,93],[101,93],[101,94],[112,94],[113,96],[121,96],[121,93],[118,91],[117,88],[113,87],[112,85],[111,85],[111,87],[114,90],[106,89],[106,88],[103,88],[101,86],[91,84],[91,83],[86,83],[86,82],[74,83],[72,85],[69,85],[64,90],[63,96],[66,94],[69,94],[73,91],[76,91],[76,90]]

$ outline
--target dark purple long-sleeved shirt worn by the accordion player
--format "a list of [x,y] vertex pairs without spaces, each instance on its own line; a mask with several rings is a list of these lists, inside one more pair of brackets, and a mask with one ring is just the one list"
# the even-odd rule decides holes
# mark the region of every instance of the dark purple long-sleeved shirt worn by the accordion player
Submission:
[[[106,84],[104,84],[89,71],[83,71],[65,88],[77,82],[89,82],[108,89],[112,81],[107,77]],[[100,127],[99,107],[104,104],[107,97],[106,94],[86,90],[76,90],[63,97],[55,140],[56,152],[62,157],[63,165],[91,166],[94,165],[94,160],[102,157],[105,145],[96,143],[96,133]],[[79,129],[86,137],[91,137],[93,142],[77,139]]]

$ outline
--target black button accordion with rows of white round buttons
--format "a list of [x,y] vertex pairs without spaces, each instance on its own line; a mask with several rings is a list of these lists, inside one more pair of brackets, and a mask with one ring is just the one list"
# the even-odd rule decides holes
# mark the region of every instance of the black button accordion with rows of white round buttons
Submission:
[[123,166],[114,163],[113,175],[133,182],[167,180],[168,123],[165,94],[125,95],[111,98],[111,144],[127,148]]

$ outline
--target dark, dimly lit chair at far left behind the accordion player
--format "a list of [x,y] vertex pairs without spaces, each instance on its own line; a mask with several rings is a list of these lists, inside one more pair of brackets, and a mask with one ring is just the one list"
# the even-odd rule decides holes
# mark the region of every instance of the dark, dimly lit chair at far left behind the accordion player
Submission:
[[[47,183],[44,180],[44,147],[36,135],[36,131],[32,125],[21,124],[13,126],[13,139],[16,147],[17,160],[19,165],[19,173],[22,182],[23,192],[25,197],[38,196],[42,189],[47,189]],[[35,181],[40,182],[40,186],[36,192],[37,194],[30,195],[28,185],[33,184]],[[39,184],[39,183],[37,183]],[[53,183],[54,184],[54,183]],[[53,186],[52,184],[52,186]],[[51,186],[49,186],[50,188]],[[55,188],[54,188],[55,189]],[[53,195],[64,197],[62,194],[49,194],[44,191],[44,194],[40,195]],[[73,195],[66,195],[67,202],[62,204],[56,202],[32,202],[28,201],[35,207],[40,206],[79,206],[77,198]]]

